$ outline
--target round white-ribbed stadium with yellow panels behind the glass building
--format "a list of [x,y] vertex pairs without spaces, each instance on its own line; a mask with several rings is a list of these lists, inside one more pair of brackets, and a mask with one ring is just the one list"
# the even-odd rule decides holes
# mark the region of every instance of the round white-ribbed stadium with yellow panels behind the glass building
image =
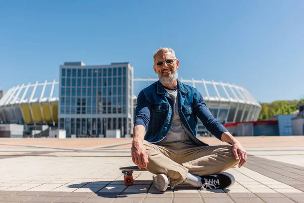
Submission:
[[[156,78],[133,79],[134,109],[136,107],[136,95],[139,91],[157,80]],[[258,118],[261,106],[243,87],[213,80],[205,81],[204,79],[185,80],[180,78],[179,80],[201,92],[210,112],[221,123],[256,121]],[[58,114],[60,109],[59,87],[59,82],[54,80],[22,84],[10,88],[0,100],[0,123],[58,127],[58,121],[60,120],[58,118],[60,116]],[[133,123],[133,118],[131,122]],[[198,134],[203,133],[207,133],[207,131],[200,122]]]

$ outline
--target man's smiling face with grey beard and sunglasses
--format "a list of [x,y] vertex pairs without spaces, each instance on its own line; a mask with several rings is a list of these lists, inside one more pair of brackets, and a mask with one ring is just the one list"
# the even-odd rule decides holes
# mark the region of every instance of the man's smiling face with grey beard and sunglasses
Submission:
[[[170,59],[175,59],[175,56],[171,52],[159,52],[154,60],[154,71],[159,75],[159,79],[161,83],[172,83],[178,77],[177,69],[179,67],[179,61],[173,60],[171,63],[167,63],[166,61]],[[156,63],[163,62],[162,65],[157,65]]]

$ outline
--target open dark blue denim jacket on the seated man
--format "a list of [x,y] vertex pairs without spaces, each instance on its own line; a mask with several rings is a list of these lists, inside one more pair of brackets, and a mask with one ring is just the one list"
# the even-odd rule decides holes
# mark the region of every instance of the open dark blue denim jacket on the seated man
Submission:
[[[177,80],[178,113],[181,123],[197,145],[207,146],[196,138],[198,118],[216,138],[227,129],[216,120],[208,110],[202,94],[194,87]],[[146,130],[144,140],[150,143],[162,141],[170,129],[172,122],[173,100],[160,81],[141,90],[137,97],[134,126],[143,125]]]

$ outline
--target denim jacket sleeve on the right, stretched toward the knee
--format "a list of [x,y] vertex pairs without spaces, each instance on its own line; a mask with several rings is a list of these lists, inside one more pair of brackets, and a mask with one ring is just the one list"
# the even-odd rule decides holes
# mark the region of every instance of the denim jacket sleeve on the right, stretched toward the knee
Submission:
[[205,104],[205,100],[201,93],[199,93],[199,100],[195,106],[194,112],[197,117],[202,121],[204,126],[211,132],[217,139],[221,140],[223,132],[228,131],[218,120],[216,120]]

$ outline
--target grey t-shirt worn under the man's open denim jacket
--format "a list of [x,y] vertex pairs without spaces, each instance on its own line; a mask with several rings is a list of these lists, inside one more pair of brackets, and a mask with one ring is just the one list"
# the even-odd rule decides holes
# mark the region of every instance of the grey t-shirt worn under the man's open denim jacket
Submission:
[[173,100],[173,118],[170,130],[167,134],[167,136],[160,142],[160,143],[167,143],[167,142],[176,142],[176,141],[189,141],[191,140],[188,136],[186,131],[184,130],[181,120],[179,118],[178,114],[178,103],[177,103],[177,91],[178,89],[168,89],[165,88],[165,90],[168,92],[170,97]]

